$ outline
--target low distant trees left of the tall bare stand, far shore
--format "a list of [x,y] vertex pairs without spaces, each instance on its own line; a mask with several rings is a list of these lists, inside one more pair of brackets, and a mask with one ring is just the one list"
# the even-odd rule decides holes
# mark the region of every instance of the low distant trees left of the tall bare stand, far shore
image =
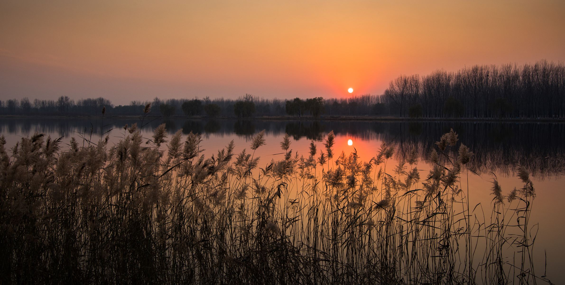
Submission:
[[[294,98],[292,100],[266,99],[245,94],[237,99],[209,97],[167,99],[155,97],[152,101],[133,100],[128,105],[114,105],[105,98],[86,98],[72,100],[60,96],[58,100],[39,100],[33,102],[28,97],[0,100],[0,114],[4,115],[139,115],[144,107],[151,104],[151,115],[157,116],[208,116],[249,118],[254,116],[284,116],[297,118],[322,115],[388,115],[382,96],[370,94],[351,98],[322,97]],[[375,105],[377,105],[375,107]]]

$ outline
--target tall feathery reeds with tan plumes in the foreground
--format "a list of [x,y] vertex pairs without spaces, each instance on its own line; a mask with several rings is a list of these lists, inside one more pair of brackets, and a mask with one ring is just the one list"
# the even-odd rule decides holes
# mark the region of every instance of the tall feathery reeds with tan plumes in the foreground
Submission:
[[427,173],[416,150],[391,166],[392,145],[368,162],[334,154],[333,132],[307,157],[286,135],[284,159],[259,165],[263,136],[251,153],[232,141],[209,158],[199,135],[168,138],[164,124],[150,139],[125,127],[112,146],[36,134],[6,150],[1,137],[1,283],[546,280],[532,262],[528,173],[506,196],[493,180],[488,217],[468,200],[472,153],[455,132]]

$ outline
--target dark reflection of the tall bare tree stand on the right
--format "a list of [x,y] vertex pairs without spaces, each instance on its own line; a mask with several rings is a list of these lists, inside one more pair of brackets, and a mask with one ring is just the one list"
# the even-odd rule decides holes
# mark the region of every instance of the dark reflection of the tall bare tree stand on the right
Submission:
[[[434,134],[453,127],[459,134],[459,141],[475,153],[470,165],[479,174],[496,171],[512,175],[518,165],[527,168],[538,179],[565,174],[565,124],[439,123],[440,127],[420,124],[425,131],[419,136],[408,132],[393,139],[397,141],[400,158],[417,148],[419,157],[429,161]],[[388,135],[384,134],[383,139]]]

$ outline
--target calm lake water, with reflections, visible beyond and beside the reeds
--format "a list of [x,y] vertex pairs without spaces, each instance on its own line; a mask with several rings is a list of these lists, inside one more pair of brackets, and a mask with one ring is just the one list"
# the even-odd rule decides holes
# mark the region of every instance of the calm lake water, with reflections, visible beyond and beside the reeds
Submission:
[[[311,141],[323,149],[322,140],[331,130],[336,133],[334,152],[346,154],[357,152],[363,161],[376,156],[383,142],[394,143],[397,152],[394,160],[402,159],[411,149],[418,149],[420,176],[425,178],[429,170],[429,150],[441,135],[453,128],[459,141],[467,145],[473,156],[472,169],[468,175],[472,205],[480,203],[477,215],[490,213],[492,196],[490,188],[496,176],[507,195],[522,183],[515,177],[516,166],[526,167],[532,176],[537,197],[533,202],[531,224],[538,224],[534,249],[536,275],[547,275],[553,283],[562,283],[561,277],[565,256],[563,234],[565,234],[565,124],[564,123],[500,123],[500,122],[362,122],[362,121],[282,121],[282,120],[185,120],[145,119],[142,135],[150,138],[153,129],[166,123],[170,133],[182,128],[184,133],[202,134],[203,152],[206,156],[216,153],[234,140],[235,152],[250,150],[250,139],[255,133],[266,130],[267,144],[255,152],[260,156],[259,167],[271,159],[283,157],[280,141],[284,133],[294,138],[291,149],[299,155],[308,156]],[[7,146],[15,145],[21,137],[35,132],[51,137],[64,137],[68,142],[75,137],[80,144],[96,143],[109,136],[112,143],[124,137],[123,126],[137,123],[138,119],[88,119],[88,118],[2,118],[0,134],[6,137]],[[347,141],[352,140],[353,145]],[[396,163],[396,162],[395,162]],[[467,183],[467,176],[462,176]],[[488,217],[487,217],[488,218]],[[547,254],[547,268],[545,268]],[[544,272],[546,271],[546,272]],[[544,282],[542,282],[544,283]]]

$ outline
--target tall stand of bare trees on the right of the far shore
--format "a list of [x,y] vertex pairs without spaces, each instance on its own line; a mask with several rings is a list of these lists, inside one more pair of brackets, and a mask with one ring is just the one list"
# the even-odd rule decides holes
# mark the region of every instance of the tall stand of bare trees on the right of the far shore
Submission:
[[400,116],[563,118],[565,65],[544,60],[402,75],[390,81],[384,97]]

